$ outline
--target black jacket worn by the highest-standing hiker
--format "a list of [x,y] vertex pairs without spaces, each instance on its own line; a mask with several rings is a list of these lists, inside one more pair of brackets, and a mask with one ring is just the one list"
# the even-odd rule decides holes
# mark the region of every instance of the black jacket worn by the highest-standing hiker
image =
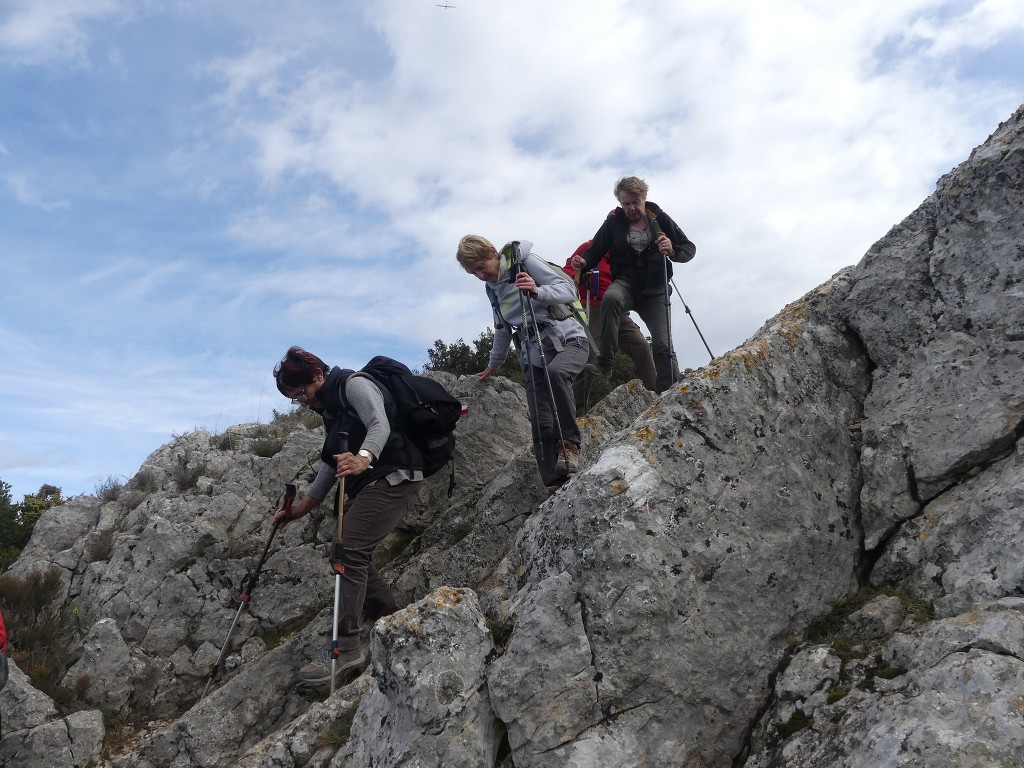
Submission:
[[[650,245],[641,253],[634,251],[626,236],[630,229],[629,219],[622,208],[615,208],[608,214],[604,223],[597,230],[583,257],[587,268],[593,269],[607,252],[611,252],[609,264],[611,280],[629,279],[634,289],[642,293],[662,293],[665,290],[665,266],[662,252],[657,249],[657,234],[665,232],[672,241],[672,261],[685,263],[693,258],[696,246],[679,228],[665,211],[650,201],[647,201],[647,225],[650,228]],[[668,265],[669,278],[672,278],[672,264]]]

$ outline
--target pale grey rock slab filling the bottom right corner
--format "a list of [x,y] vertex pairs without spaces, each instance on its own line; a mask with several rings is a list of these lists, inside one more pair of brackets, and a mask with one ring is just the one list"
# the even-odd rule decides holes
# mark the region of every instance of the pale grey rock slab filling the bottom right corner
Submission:
[[746,766],[1017,765],[1024,756],[1022,632],[1019,610],[992,606],[897,635],[879,665],[847,681],[849,695],[808,713],[806,727]]

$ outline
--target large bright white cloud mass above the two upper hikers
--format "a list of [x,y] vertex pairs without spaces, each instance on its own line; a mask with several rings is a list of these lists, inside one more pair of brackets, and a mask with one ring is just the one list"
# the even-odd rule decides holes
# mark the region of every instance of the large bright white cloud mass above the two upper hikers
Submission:
[[[525,232],[560,260],[613,204],[614,178],[638,171],[692,232],[697,270],[733,257],[804,290],[793,278],[823,280],[908,213],[1005,95],[928,82],[932,58],[879,58],[940,9],[568,2],[431,15],[385,3],[374,24],[387,72],[263,72],[272,89],[252,101],[229,89],[229,102],[264,178],[326,178],[368,221],[423,242],[413,268],[452,264],[470,230]],[[308,237],[289,228],[294,213],[278,231]],[[361,215],[338,211],[350,227]],[[337,249],[361,252],[360,240],[341,233]],[[750,325],[793,298],[756,302]]]

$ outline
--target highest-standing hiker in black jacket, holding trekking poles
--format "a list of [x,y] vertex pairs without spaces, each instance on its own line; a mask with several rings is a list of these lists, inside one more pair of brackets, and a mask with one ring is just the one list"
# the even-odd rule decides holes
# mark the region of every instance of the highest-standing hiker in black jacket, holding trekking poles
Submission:
[[647,201],[647,183],[626,176],[615,183],[618,207],[608,214],[583,255],[572,260],[580,269],[592,269],[610,251],[611,285],[601,299],[600,342],[591,373],[607,375],[618,350],[618,324],[635,309],[650,332],[657,378],[654,389],[664,392],[676,379],[672,349],[669,282],[672,261],[693,258],[696,246],[658,206]]

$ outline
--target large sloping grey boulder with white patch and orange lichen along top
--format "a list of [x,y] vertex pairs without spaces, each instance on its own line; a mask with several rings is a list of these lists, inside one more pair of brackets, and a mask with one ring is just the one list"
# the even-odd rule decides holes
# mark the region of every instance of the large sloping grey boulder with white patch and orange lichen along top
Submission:
[[[840,382],[866,372],[825,364],[855,359],[827,297],[684,379],[524,523],[509,555],[520,591],[572,578],[596,670],[598,706],[567,715],[566,754],[728,763],[785,639],[853,587],[857,455],[836,435],[861,418]],[[571,685],[541,654],[524,664]]]

